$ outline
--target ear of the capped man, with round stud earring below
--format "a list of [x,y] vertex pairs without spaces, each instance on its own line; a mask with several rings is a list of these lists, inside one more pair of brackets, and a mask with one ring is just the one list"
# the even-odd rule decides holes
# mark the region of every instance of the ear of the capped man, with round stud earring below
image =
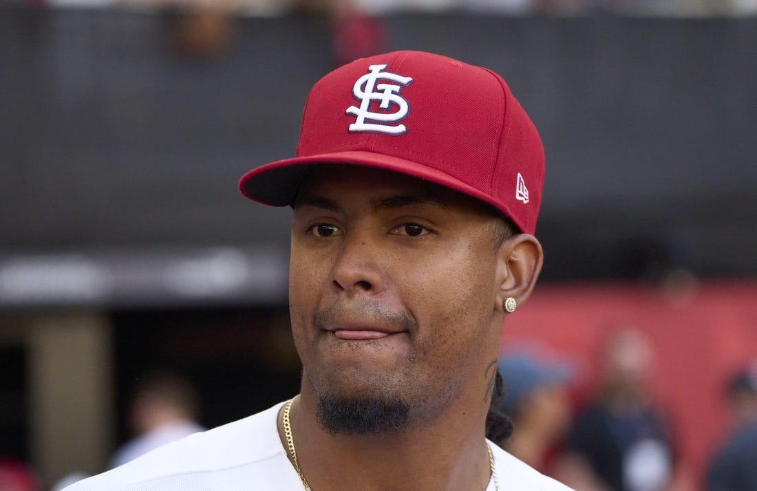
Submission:
[[507,297],[515,298],[521,305],[531,295],[541,271],[544,251],[533,235],[518,234],[503,241],[498,253],[496,308],[506,313],[502,302]]

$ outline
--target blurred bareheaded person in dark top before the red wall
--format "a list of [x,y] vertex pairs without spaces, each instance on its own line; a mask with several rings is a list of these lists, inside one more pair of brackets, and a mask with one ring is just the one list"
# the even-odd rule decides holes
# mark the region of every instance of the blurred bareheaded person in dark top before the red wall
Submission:
[[653,350],[635,328],[603,346],[600,387],[579,412],[558,475],[576,489],[662,491],[671,485],[674,446],[652,392]]

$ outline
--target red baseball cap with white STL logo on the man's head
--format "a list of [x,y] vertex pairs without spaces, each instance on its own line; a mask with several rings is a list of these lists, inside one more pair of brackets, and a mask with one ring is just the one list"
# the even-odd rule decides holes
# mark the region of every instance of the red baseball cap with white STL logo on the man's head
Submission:
[[544,148],[505,81],[422,51],[363,58],[324,76],[307,98],[296,157],[257,167],[242,194],[293,204],[319,163],[377,167],[469,194],[534,233]]

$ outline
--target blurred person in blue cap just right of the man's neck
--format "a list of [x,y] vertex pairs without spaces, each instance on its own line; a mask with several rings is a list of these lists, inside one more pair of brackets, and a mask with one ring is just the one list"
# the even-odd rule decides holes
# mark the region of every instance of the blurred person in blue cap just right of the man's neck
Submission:
[[503,448],[544,474],[571,423],[565,365],[531,352],[507,353],[499,368],[504,384],[502,410],[512,418],[512,435]]

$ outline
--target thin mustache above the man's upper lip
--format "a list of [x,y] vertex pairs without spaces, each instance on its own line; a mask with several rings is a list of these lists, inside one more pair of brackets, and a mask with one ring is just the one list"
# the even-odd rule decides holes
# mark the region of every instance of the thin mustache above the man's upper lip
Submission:
[[415,332],[418,329],[418,321],[410,312],[394,312],[370,303],[350,306],[341,303],[332,304],[313,314],[313,325],[316,328],[325,329],[328,326],[340,325],[344,319],[349,319],[351,322],[359,319],[361,324],[391,326],[393,331]]

